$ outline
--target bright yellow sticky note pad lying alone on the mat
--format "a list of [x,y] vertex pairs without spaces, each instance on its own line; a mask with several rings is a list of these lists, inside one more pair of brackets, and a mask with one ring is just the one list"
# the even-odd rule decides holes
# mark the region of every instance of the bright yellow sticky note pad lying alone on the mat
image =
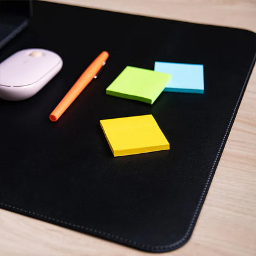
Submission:
[[100,126],[114,156],[170,149],[151,114],[100,120]]

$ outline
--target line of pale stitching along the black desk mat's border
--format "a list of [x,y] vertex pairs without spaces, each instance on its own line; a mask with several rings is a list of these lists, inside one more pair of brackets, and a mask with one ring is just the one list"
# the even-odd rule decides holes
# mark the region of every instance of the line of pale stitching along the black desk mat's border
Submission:
[[127,238],[122,238],[121,236],[117,236],[115,234],[110,234],[110,233],[106,233],[106,232],[103,232],[103,231],[94,230],[92,228],[87,228],[86,226],[81,226],[81,225],[76,225],[76,224],[73,224],[73,223],[64,222],[64,221],[58,220],[56,218],[47,217],[47,216],[44,216],[44,215],[41,215],[41,214],[36,214],[35,212],[31,212],[31,211],[28,211],[28,210],[23,210],[23,209],[14,207],[14,206],[10,206],[10,205],[4,204],[2,202],[0,202],[1,206],[5,206],[5,207],[9,207],[11,209],[19,210],[20,212],[26,212],[26,213],[31,214],[31,215],[36,215],[38,217],[45,218],[45,219],[48,219],[48,220],[52,220],[54,222],[63,223],[63,224],[68,225],[68,226],[74,226],[74,227],[77,227],[77,228],[81,228],[82,230],[87,230],[87,231],[90,231],[90,232],[95,233],[95,234],[101,234],[103,236],[106,236],[106,238],[107,237],[115,238],[115,239],[117,239],[121,242],[126,242],[127,244],[132,244],[134,246],[142,247],[142,248],[149,249],[149,250],[158,251],[158,250],[161,250],[161,249],[169,249],[169,248],[172,248],[174,246],[178,246],[179,244],[182,244],[183,242],[186,241],[186,239],[190,238],[190,234],[192,233],[192,228],[195,225],[196,218],[199,215],[199,209],[201,209],[202,202],[206,198],[205,194],[207,192],[207,188],[209,188],[209,186],[210,186],[210,180],[213,177],[214,169],[215,169],[216,163],[218,161],[218,158],[220,156],[220,151],[222,151],[222,149],[223,149],[223,144],[226,140],[226,136],[228,135],[228,131],[231,129],[230,126],[231,126],[231,123],[233,122],[234,114],[238,110],[238,105],[239,105],[240,100],[242,98],[242,94],[244,93],[244,90],[246,88],[246,84],[247,84],[247,82],[249,80],[249,77],[250,77],[250,73],[252,72],[252,68],[254,67],[255,58],[256,58],[256,54],[254,55],[254,60],[253,60],[252,64],[250,65],[249,73],[247,74],[246,80],[244,82],[244,86],[242,87],[241,93],[240,93],[239,98],[238,98],[238,102],[236,102],[236,106],[234,108],[234,111],[233,111],[233,114],[231,116],[230,122],[228,123],[228,127],[226,129],[226,132],[225,132],[225,135],[223,137],[222,143],[220,144],[220,148],[218,150],[218,153],[217,153],[217,155],[214,159],[214,163],[212,165],[212,169],[210,170],[209,177],[207,178],[206,185],[204,186],[204,190],[202,191],[202,194],[201,194],[201,197],[199,199],[198,205],[196,206],[196,210],[194,211],[194,214],[193,214],[193,217],[191,219],[190,225],[188,226],[188,230],[186,231],[183,238],[180,239],[179,241],[174,242],[173,244],[170,244],[170,245],[167,245],[167,246],[147,246],[146,244],[140,244],[136,241],[132,241],[132,240],[127,239]]

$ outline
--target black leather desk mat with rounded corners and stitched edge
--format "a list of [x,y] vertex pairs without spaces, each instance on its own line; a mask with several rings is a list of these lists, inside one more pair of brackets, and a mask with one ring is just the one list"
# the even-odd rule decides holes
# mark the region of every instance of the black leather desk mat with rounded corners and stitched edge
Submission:
[[[0,50],[42,47],[63,69],[37,95],[0,101],[4,209],[150,252],[191,236],[238,111],[255,34],[217,26],[34,2],[30,26]],[[49,113],[102,51],[110,58],[58,122]],[[105,95],[127,66],[201,63],[204,94],[162,93],[154,105]],[[114,158],[99,120],[153,114],[169,151]]]

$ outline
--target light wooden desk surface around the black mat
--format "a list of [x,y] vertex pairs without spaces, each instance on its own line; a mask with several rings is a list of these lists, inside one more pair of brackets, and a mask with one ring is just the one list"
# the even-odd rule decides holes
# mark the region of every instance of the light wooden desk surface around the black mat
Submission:
[[[255,0],[55,0],[256,32]],[[256,68],[190,241],[161,255],[256,255]],[[0,209],[0,255],[156,255]]]

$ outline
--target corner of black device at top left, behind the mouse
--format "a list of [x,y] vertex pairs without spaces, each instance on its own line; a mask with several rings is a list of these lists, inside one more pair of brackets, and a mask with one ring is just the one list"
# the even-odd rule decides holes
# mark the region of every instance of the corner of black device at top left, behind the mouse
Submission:
[[30,1],[0,1],[0,48],[27,25],[32,15]]

